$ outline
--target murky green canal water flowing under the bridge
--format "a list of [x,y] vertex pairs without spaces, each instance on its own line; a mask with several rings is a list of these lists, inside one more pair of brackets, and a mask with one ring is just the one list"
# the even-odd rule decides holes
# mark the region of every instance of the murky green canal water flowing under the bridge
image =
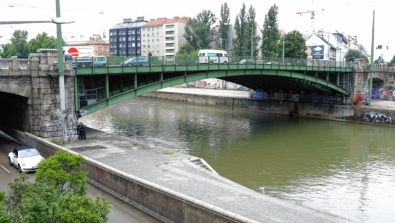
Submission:
[[203,158],[269,196],[357,222],[395,222],[395,128],[145,98],[80,121]]

